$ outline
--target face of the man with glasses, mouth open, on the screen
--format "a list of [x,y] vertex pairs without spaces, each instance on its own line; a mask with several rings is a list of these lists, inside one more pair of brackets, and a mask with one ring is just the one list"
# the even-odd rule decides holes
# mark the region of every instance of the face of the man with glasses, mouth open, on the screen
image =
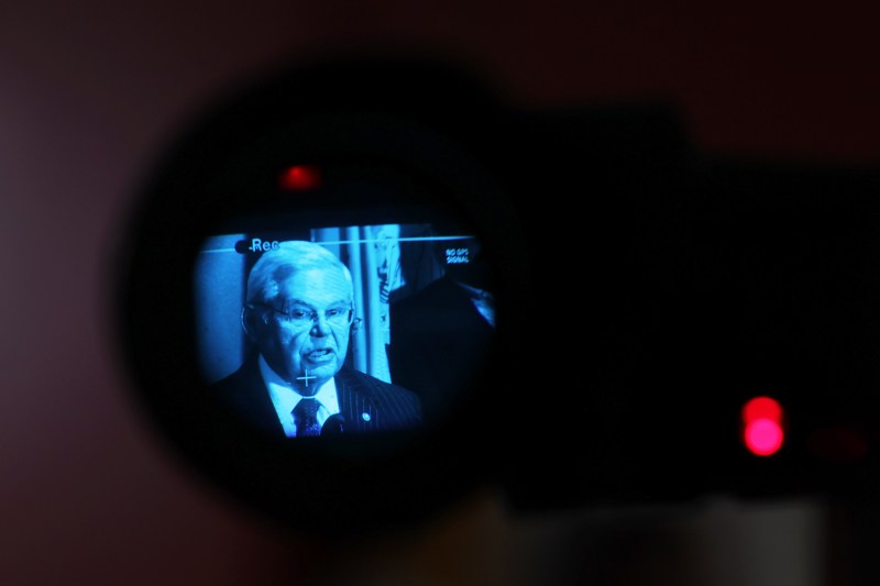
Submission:
[[266,309],[268,323],[256,320],[260,352],[304,394],[317,390],[345,360],[351,303],[351,284],[338,268],[292,273],[278,297],[267,301],[284,313]]

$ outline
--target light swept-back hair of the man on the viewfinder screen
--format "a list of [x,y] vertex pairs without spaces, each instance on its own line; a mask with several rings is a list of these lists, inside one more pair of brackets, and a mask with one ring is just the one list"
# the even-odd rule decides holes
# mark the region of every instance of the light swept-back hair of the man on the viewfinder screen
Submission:
[[[263,254],[248,277],[248,302],[266,302],[280,292],[282,284],[299,270],[337,268],[352,284],[351,272],[333,253],[306,240],[282,242]],[[353,290],[353,286],[352,286]]]

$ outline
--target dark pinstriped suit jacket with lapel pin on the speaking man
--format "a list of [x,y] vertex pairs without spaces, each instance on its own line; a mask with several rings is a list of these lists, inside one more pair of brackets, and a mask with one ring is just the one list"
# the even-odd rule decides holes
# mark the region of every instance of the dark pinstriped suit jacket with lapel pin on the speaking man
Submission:
[[[421,423],[421,406],[414,392],[348,368],[337,373],[334,379],[344,434],[402,430]],[[212,389],[250,423],[267,433],[285,436],[260,375],[256,355],[216,383]]]

